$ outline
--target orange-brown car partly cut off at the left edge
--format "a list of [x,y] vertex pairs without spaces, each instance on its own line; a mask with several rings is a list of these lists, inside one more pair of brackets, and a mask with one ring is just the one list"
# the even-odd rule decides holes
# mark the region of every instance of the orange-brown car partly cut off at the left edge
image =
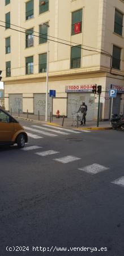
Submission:
[[18,144],[23,148],[28,142],[28,135],[18,121],[0,108],[0,145]]

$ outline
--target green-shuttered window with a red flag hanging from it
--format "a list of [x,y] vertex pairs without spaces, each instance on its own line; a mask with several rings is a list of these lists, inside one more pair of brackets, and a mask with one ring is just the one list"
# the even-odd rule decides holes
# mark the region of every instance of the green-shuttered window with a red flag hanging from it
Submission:
[[82,10],[72,13],[71,35],[82,32]]

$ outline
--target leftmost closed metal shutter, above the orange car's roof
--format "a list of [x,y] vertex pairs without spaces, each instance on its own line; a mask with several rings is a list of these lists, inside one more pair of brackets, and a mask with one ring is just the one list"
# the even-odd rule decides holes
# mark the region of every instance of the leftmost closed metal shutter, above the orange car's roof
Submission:
[[9,111],[23,113],[23,94],[9,94]]

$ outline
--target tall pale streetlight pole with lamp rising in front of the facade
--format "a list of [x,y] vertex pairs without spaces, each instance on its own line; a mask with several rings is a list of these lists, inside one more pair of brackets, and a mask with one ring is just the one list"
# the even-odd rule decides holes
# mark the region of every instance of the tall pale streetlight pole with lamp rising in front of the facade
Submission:
[[43,23],[43,26],[48,28],[48,44],[47,44],[47,62],[46,62],[46,111],[45,111],[45,121],[48,121],[48,75],[49,75],[49,24]]

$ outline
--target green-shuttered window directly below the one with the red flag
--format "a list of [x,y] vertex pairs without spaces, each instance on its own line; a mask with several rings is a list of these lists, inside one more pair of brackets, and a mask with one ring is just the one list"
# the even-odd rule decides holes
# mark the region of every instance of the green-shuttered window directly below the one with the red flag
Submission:
[[71,68],[80,68],[81,65],[81,45],[71,47]]

